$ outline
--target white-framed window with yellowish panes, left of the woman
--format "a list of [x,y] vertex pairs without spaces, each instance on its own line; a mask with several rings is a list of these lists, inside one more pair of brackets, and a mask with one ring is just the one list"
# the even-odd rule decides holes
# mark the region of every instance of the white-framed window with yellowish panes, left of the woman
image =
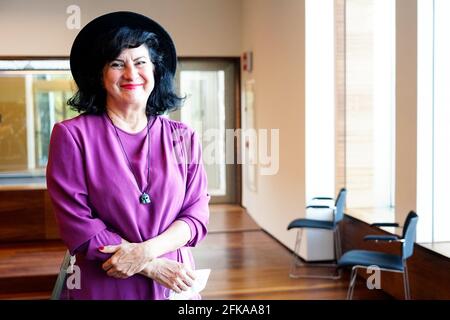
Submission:
[[55,122],[77,115],[66,60],[0,61],[0,184],[42,183]]

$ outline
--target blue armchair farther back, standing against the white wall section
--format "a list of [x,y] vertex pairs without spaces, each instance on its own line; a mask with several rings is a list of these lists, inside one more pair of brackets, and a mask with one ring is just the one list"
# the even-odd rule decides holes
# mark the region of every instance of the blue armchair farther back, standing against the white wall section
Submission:
[[[300,245],[302,241],[302,235],[303,235],[303,229],[305,228],[311,228],[311,229],[324,229],[324,230],[330,230],[333,231],[333,241],[334,241],[334,261],[337,261],[341,255],[342,249],[341,249],[341,236],[339,233],[339,222],[342,221],[344,217],[344,208],[345,208],[345,201],[347,197],[347,190],[342,188],[339,191],[339,194],[336,198],[334,207],[326,206],[326,205],[311,205],[307,206],[306,208],[316,208],[316,209],[324,209],[324,208],[330,208],[333,210],[333,220],[331,221],[323,221],[323,220],[314,220],[314,219],[296,219],[292,221],[287,229],[298,229],[297,230],[297,237],[295,240],[295,248],[293,252],[293,259],[292,259],[292,265],[291,265],[291,271],[289,273],[289,276],[291,278],[321,278],[321,279],[339,279],[341,277],[341,270],[337,268],[336,263],[308,263],[308,262],[302,262],[299,258],[300,254]],[[324,198],[324,197],[317,197],[313,200],[333,200],[332,198]],[[319,275],[319,274],[313,274],[313,275],[301,275],[297,273],[297,267],[312,267],[312,268],[322,268],[322,267],[332,267],[335,268],[335,274],[333,275]]]

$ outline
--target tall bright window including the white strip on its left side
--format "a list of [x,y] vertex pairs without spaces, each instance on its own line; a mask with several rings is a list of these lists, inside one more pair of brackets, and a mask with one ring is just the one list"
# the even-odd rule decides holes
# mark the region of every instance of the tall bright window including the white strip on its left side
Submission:
[[390,214],[395,1],[307,0],[305,10],[306,197],[346,186],[348,208]]

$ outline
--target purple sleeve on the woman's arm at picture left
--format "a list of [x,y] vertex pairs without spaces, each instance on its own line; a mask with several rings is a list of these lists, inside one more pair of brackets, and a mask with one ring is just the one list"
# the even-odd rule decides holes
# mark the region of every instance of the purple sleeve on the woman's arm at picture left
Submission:
[[107,259],[109,255],[97,252],[98,246],[119,244],[121,237],[95,217],[82,147],[64,124],[56,124],[52,131],[46,176],[61,238],[70,253],[82,251],[87,259]]

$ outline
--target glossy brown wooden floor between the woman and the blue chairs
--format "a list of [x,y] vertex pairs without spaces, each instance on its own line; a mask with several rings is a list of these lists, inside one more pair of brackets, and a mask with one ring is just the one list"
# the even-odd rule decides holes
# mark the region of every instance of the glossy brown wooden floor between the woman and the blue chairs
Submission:
[[[237,206],[211,207],[209,234],[193,253],[197,269],[212,269],[204,299],[345,299],[347,293],[348,273],[341,280],[291,279],[291,253]],[[391,298],[360,281],[354,299]]]

